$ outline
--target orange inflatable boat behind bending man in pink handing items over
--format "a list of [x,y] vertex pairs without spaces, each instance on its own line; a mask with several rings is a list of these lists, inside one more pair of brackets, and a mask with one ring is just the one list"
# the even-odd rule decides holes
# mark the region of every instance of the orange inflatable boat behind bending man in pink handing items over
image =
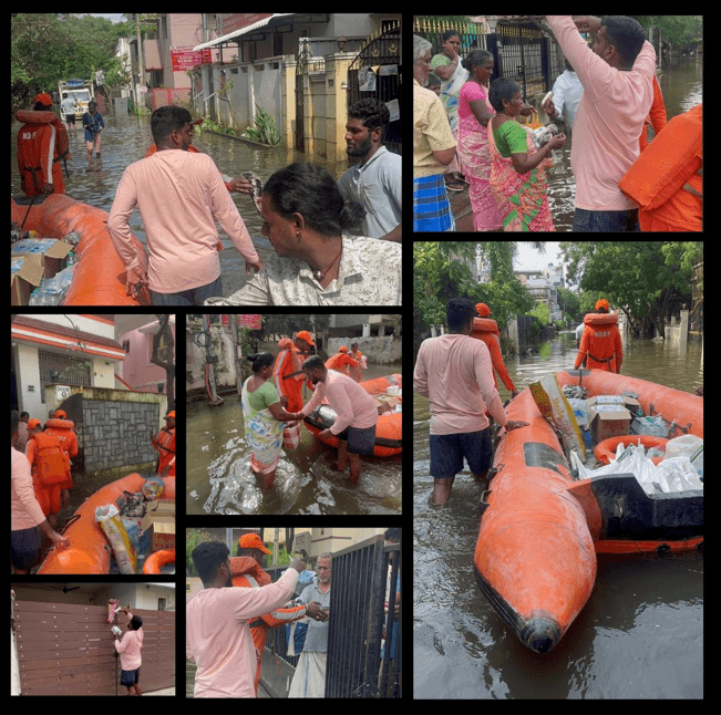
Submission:
[[[363,380],[358,383],[369,395],[383,395],[388,393],[389,387],[401,390],[403,386],[403,376],[400,374],[387,375],[385,377],[374,377],[373,380]],[[325,442],[331,447],[338,448],[338,437],[319,437],[323,429],[328,429],[336,422],[336,412],[323,401],[316,411],[306,417],[306,426],[312,432],[318,439]],[[375,448],[374,457],[392,457],[403,452],[403,415],[400,412],[390,412],[378,417],[375,424]]]

